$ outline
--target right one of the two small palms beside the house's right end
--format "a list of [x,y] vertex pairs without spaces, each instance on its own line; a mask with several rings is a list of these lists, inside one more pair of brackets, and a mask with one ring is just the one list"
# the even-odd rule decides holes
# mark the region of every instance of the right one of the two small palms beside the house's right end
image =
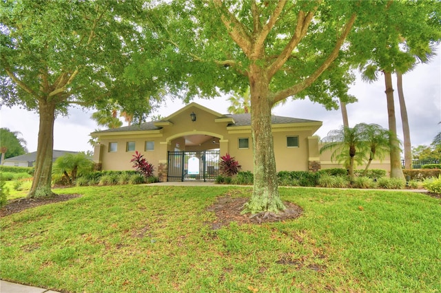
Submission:
[[363,175],[366,175],[367,169],[369,169],[374,158],[382,159],[385,154],[390,152],[391,144],[389,144],[389,141],[391,132],[378,124],[360,123],[357,125],[362,135],[362,140],[369,147],[369,159],[367,160],[365,171],[363,171]]

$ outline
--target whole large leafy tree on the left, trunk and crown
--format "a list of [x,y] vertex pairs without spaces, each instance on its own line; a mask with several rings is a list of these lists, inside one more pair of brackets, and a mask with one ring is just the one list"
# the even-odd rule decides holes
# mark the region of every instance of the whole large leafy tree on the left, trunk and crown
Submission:
[[[54,120],[69,105],[107,106],[143,116],[158,85],[121,78],[141,34],[140,1],[1,1],[1,105],[39,113],[34,180],[28,197],[52,195]],[[143,34],[144,39],[148,38]],[[149,42],[143,50],[149,50]],[[142,109],[142,110],[141,110]]]

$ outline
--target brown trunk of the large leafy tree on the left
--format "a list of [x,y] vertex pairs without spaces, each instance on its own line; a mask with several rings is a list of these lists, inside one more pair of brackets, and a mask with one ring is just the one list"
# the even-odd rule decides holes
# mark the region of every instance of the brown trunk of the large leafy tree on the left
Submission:
[[34,178],[28,197],[47,197],[54,195],[51,191],[52,153],[54,149],[55,105],[39,101],[39,139],[37,159],[34,165]]

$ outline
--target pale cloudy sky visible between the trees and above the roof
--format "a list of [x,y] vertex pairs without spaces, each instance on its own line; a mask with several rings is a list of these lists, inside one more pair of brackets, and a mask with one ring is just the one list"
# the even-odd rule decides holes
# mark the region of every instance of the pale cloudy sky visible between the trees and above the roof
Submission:
[[[435,135],[441,131],[441,52],[429,64],[420,64],[413,71],[403,75],[404,98],[411,131],[411,144],[431,144]],[[393,79],[396,89],[396,79]],[[380,124],[388,128],[386,94],[384,94],[384,76],[380,75],[373,83],[364,83],[360,78],[351,86],[349,94],[356,96],[358,102],[347,105],[349,127],[360,122]],[[402,140],[402,123],[398,93],[394,91],[398,138]],[[226,97],[210,100],[194,99],[204,107],[227,113],[229,102]],[[178,99],[169,98],[154,114],[167,117],[178,111],[185,104]],[[90,133],[99,127],[90,118],[92,110],[71,107],[67,117],[57,117],[54,124],[54,149],[62,151],[93,151],[89,144]],[[319,120],[322,127],[315,133],[324,138],[333,129],[342,126],[340,109],[327,111],[320,104],[309,100],[288,100],[285,105],[275,107],[273,114],[294,118]],[[126,125],[126,124],[125,124]],[[124,126],[125,126],[124,125]],[[37,151],[39,116],[37,113],[19,107],[1,107],[0,127],[10,131],[19,131],[27,144],[29,152]],[[103,129],[103,127],[101,127]]]

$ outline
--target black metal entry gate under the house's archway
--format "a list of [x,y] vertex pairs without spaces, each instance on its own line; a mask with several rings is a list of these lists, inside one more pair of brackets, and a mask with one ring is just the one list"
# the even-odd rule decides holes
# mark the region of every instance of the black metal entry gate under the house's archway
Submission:
[[214,181],[219,151],[169,151],[167,181]]

